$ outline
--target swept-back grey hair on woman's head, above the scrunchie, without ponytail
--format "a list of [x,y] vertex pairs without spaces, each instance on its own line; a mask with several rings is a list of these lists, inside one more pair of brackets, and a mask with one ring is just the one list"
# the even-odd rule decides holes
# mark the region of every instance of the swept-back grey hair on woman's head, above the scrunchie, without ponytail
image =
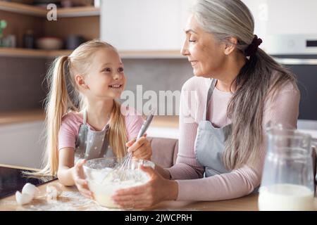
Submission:
[[213,34],[218,41],[237,38],[236,47],[242,52],[254,39],[254,18],[242,1],[196,1],[191,11],[203,30]]

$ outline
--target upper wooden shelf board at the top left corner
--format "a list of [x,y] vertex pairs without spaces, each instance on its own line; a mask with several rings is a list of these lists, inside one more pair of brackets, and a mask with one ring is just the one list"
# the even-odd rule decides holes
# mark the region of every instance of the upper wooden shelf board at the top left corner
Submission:
[[[20,4],[15,2],[0,1],[0,11],[7,11],[11,13],[20,13],[23,15],[34,15],[39,17],[46,17],[47,10],[37,6],[30,6],[27,4]],[[82,17],[82,16],[96,16],[100,15],[100,8],[94,6],[82,6],[73,8],[57,8],[58,18]]]

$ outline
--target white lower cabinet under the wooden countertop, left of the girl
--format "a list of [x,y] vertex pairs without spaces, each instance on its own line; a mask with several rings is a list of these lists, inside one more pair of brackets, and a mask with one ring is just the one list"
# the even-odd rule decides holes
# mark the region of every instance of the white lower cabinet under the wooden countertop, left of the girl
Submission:
[[39,168],[44,153],[43,122],[0,126],[0,164]]

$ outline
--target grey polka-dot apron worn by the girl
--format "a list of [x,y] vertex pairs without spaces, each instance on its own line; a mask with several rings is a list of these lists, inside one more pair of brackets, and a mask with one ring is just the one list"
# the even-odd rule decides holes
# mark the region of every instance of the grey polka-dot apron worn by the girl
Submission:
[[84,120],[80,125],[75,145],[75,162],[80,159],[113,157],[113,151],[108,146],[108,129],[106,124],[101,131],[93,131],[87,125],[87,111],[84,110]]

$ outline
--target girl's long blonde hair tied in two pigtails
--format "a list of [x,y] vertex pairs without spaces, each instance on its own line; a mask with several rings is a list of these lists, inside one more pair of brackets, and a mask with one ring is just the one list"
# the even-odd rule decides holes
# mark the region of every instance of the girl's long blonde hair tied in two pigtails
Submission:
[[[58,171],[58,131],[62,117],[68,111],[79,112],[87,105],[75,83],[75,74],[87,75],[90,61],[94,53],[101,48],[116,49],[103,41],[93,40],[80,45],[70,54],[54,60],[49,68],[46,79],[49,95],[45,104],[46,150],[43,169],[37,175],[56,175]],[[113,100],[109,130],[109,145],[117,157],[126,153],[125,143],[128,141],[125,130],[125,118],[120,110],[120,103]]]

